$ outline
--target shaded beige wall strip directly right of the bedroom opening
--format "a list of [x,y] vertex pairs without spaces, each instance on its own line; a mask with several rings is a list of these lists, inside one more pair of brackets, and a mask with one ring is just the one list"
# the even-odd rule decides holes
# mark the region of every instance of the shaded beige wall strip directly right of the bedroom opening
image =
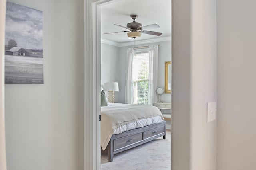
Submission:
[[190,164],[190,0],[172,0],[172,170]]

